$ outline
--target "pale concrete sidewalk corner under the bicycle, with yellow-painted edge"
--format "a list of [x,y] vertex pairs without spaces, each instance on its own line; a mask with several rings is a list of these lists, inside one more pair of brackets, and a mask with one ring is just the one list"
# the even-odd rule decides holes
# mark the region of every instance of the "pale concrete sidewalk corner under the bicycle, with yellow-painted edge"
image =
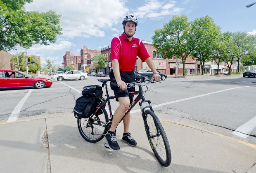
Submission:
[[138,145],[121,141],[121,150],[104,148],[104,139],[88,143],[79,134],[73,115],[0,122],[2,173],[169,172],[256,173],[256,145],[192,127],[193,122],[171,121],[157,114],[171,146],[172,162],[163,167],[147,141],[140,113],[133,113],[130,132]]

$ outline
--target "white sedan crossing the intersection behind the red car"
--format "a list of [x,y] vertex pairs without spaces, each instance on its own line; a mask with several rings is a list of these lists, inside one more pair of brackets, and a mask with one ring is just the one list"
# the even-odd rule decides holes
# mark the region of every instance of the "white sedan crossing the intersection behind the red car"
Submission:
[[51,77],[52,80],[58,80],[58,81],[63,81],[68,79],[85,80],[87,78],[88,78],[87,73],[81,72],[79,70],[71,70],[63,74],[57,74]]

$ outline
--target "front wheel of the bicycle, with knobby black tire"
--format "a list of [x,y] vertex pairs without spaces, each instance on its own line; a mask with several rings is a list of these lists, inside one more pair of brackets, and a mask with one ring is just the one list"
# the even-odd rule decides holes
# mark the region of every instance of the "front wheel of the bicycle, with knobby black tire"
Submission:
[[145,111],[143,121],[149,144],[156,159],[161,165],[169,166],[171,164],[171,149],[161,122],[151,110]]

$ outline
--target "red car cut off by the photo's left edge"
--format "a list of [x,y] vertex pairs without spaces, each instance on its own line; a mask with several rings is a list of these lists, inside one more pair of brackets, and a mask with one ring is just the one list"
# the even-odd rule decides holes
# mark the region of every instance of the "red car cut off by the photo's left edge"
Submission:
[[0,70],[0,88],[17,88],[17,87],[36,87],[44,88],[51,86],[52,80],[47,78],[37,78],[29,74],[14,71]]

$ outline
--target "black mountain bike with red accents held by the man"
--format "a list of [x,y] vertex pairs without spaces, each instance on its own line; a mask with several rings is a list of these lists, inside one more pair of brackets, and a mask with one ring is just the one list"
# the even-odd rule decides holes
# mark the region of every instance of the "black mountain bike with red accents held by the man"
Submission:
[[[96,143],[102,140],[102,138],[104,138],[105,134],[111,127],[113,114],[111,111],[110,99],[116,98],[115,96],[109,96],[107,82],[109,82],[110,79],[97,80],[102,82],[102,87],[104,87],[106,90],[107,98],[99,98],[100,101],[97,102],[96,111],[92,113],[89,118],[77,120],[78,130],[81,136],[90,143]],[[167,136],[165,134],[164,128],[161,125],[161,122],[154,113],[151,101],[146,100],[144,97],[145,93],[147,92],[147,84],[155,82],[158,81],[154,81],[154,79],[143,79],[133,83],[127,83],[128,87],[138,86],[139,90],[135,90],[135,92],[129,92],[129,95],[137,95],[137,97],[133,99],[133,103],[130,104],[129,108],[123,115],[123,118],[135,106],[135,104],[139,102],[147,138],[154,152],[154,155],[161,165],[169,166],[171,164],[171,149]],[[142,87],[145,87],[144,91],[142,90]],[[142,106],[144,103],[148,103],[148,106]],[[106,105],[109,107],[110,118],[105,109]],[[105,145],[105,147],[107,146]]]

